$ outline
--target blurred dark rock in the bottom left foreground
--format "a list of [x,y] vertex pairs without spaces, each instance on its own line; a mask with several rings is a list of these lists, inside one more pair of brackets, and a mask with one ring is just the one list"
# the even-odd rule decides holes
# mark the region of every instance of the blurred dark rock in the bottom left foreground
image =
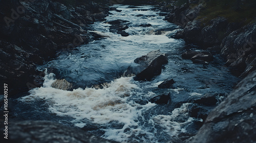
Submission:
[[116,142],[50,121],[12,122],[8,127],[8,133],[10,134],[8,142]]

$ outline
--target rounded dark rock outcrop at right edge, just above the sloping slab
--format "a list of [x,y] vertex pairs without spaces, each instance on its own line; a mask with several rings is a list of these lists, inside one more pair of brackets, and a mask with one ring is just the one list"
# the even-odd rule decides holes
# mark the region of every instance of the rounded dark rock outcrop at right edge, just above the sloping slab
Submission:
[[221,44],[221,55],[229,65],[241,70],[243,77],[256,69],[255,59],[256,23],[231,32]]

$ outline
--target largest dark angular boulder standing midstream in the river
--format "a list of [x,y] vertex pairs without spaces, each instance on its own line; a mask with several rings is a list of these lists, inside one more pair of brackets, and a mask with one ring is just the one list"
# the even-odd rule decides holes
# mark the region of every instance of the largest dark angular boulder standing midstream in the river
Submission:
[[129,67],[124,75],[136,75],[135,80],[151,80],[153,77],[161,74],[162,65],[168,63],[167,56],[160,53],[160,50],[152,51],[145,56],[134,60],[139,64],[135,67]]

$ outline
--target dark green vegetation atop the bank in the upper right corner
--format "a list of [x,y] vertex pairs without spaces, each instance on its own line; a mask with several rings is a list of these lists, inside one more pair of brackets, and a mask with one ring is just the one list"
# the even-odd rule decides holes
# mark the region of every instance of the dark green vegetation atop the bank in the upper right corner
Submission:
[[198,19],[203,19],[206,25],[211,19],[223,16],[229,22],[238,22],[246,25],[255,20],[256,17],[256,1],[254,0],[215,0],[206,2],[206,9],[200,13]]

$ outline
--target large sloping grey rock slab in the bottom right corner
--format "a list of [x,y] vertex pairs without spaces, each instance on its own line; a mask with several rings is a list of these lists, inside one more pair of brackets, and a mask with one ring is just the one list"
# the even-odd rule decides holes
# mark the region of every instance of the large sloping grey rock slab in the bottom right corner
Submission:
[[210,112],[199,132],[187,142],[255,142],[256,70]]

